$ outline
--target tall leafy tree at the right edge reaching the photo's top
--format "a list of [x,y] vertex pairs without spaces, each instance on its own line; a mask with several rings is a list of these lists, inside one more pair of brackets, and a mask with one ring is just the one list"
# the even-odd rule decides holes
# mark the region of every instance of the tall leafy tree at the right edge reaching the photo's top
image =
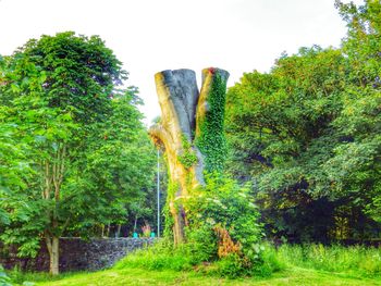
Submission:
[[337,174],[336,190],[357,196],[356,203],[366,204],[381,222],[381,3],[366,0],[356,7],[336,1],[336,7],[348,27],[343,52],[352,70],[346,104],[334,123],[347,142],[337,147],[328,167]]

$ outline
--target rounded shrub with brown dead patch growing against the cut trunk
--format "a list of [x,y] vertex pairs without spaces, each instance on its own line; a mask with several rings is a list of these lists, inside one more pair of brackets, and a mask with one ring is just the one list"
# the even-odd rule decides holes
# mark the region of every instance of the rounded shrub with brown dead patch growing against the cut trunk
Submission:
[[[197,245],[199,252],[208,252],[206,261],[220,259],[216,265],[221,268],[217,272],[222,276],[249,274],[263,263],[258,245],[262,227],[257,223],[259,212],[251,200],[250,188],[216,174],[207,176],[206,182],[205,187],[195,189],[184,201],[188,210],[188,241]],[[195,235],[200,229],[202,236]]]

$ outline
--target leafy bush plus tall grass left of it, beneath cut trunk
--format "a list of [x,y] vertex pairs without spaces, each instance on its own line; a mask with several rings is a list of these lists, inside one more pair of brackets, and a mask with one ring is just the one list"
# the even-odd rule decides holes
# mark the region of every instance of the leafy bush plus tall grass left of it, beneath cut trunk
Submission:
[[262,228],[249,191],[233,179],[208,176],[206,187],[195,189],[183,201],[187,210],[185,244],[174,247],[170,240],[161,240],[127,256],[115,268],[195,269],[230,278],[271,274],[279,265],[266,261],[271,256],[259,245]]

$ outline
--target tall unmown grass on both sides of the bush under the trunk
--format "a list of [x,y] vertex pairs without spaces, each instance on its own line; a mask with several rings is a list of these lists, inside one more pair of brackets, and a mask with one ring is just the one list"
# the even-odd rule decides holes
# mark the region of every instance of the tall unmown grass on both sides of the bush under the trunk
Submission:
[[[356,276],[381,276],[381,249],[374,247],[339,245],[282,245],[278,249],[265,244],[263,263],[258,264],[255,275],[268,276],[287,268],[314,269]],[[197,269],[209,274],[229,272],[232,261],[206,263],[200,253],[189,246],[174,249],[171,244],[159,244],[138,250],[116,263],[115,269],[143,268],[147,270],[189,271]],[[222,275],[225,276],[225,275]]]

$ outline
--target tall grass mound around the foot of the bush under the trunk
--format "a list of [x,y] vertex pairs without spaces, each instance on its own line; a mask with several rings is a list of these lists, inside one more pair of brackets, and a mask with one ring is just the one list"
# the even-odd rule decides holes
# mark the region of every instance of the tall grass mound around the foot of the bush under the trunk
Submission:
[[222,259],[211,257],[197,244],[184,244],[173,247],[173,244],[162,240],[147,249],[140,249],[119,261],[114,269],[142,268],[146,270],[197,271],[206,275],[222,277],[269,276],[284,269],[276,260],[273,248],[266,248],[261,253],[262,260],[254,264],[253,270],[242,269],[237,257],[228,256]]

